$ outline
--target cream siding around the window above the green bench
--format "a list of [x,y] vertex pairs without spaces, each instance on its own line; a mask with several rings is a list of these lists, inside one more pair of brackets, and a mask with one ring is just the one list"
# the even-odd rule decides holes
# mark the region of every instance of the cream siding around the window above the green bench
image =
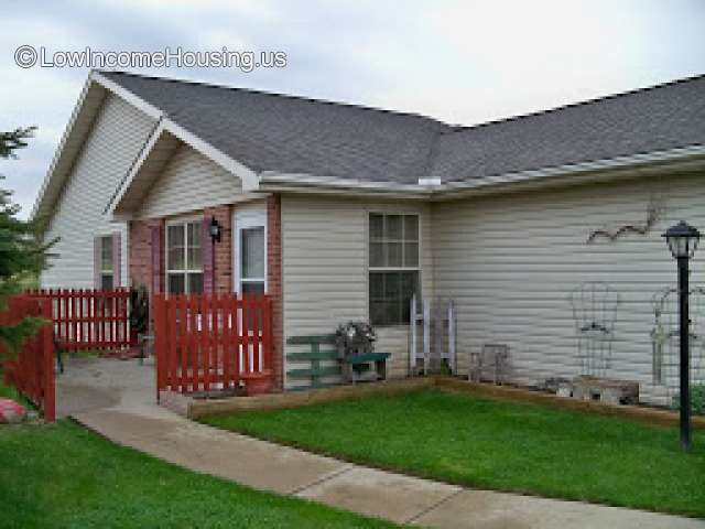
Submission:
[[[330,196],[282,196],[284,337],[333,333],[348,320],[368,319],[370,212],[419,214],[421,283],[433,284],[429,205]],[[391,377],[406,375],[409,326],[380,327],[377,350],[391,353]],[[300,366],[296,366],[300,367]],[[290,367],[291,368],[291,367]],[[285,367],[286,369],[286,367]],[[288,381],[294,386],[295,381]]]

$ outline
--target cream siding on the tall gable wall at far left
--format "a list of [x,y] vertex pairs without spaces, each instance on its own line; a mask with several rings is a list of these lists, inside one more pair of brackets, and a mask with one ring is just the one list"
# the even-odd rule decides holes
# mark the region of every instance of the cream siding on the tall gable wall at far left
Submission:
[[42,273],[44,288],[93,288],[94,239],[120,233],[121,284],[128,284],[126,223],[111,223],[102,212],[153,128],[153,120],[118,96],[109,95],[54,208],[46,240],[57,257]]

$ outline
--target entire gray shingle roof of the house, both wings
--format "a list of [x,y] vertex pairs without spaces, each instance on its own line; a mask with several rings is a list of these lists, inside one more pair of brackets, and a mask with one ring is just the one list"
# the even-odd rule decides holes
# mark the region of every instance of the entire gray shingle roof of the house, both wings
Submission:
[[452,127],[432,118],[102,72],[254,171],[444,182],[705,144],[705,75],[544,112]]

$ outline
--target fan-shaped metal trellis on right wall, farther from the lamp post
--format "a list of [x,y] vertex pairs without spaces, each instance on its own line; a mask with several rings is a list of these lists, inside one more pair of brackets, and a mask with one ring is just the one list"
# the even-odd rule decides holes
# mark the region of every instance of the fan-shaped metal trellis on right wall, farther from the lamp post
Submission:
[[610,367],[619,294],[604,282],[571,292],[581,375],[605,377]]

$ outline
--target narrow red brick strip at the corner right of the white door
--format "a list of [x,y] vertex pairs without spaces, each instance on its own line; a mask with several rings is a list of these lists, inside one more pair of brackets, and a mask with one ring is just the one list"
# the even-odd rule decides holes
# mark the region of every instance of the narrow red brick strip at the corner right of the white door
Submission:
[[267,198],[267,288],[272,298],[272,369],[274,387],[284,385],[284,320],[282,294],[282,207],[280,195]]

